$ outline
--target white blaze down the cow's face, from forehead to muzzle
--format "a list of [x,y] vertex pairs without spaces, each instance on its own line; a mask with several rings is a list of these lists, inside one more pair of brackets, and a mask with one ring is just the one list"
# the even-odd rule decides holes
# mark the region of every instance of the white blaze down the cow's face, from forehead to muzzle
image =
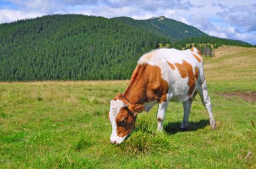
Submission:
[[119,137],[117,135],[117,115],[119,113],[119,111],[121,110],[122,107],[126,107],[127,105],[125,105],[125,103],[123,103],[123,101],[120,100],[112,100],[110,101],[110,110],[109,110],[109,120],[110,123],[112,125],[112,133],[111,133],[111,137],[110,137],[110,142],[115,142],[116,144],[121,144],[121,142],[123,142],[123,140],[125,139],[125,137]]

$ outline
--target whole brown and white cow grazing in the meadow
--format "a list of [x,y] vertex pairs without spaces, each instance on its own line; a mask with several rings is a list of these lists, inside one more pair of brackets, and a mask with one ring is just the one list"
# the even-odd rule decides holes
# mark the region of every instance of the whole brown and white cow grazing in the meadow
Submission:
[[199,93],[209,113],[211,127],[216,128],[203,74],[203,59],[197,48],[158,49],[144,54],[133,71],[125,93],[119,93],[110,101],[110,142],[121,144],[134,128],[137,114],[150,111],[156,103],[159,104],[158,130],[162,131],[169,101],[182,101],[184,117],[181,129],[185,129],[189,125],[189,112],[196,93]]

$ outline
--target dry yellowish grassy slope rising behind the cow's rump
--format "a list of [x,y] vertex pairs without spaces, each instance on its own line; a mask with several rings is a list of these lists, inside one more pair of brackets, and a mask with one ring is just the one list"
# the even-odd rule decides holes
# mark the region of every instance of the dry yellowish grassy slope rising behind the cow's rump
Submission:
[[234,86],[231,90],[236,89],[236,85],[243,84],[243,90],[250,91],[253,86],[249,84],[256,85],[255,54],[256,48],[221,46],[215,51],[213,58],[204,59],[206,78],[214,83],[232,83]]

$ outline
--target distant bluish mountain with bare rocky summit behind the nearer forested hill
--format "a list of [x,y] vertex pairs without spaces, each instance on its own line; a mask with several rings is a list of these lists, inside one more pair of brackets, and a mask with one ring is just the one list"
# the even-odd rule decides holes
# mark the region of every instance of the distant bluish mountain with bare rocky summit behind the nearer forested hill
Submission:
[[191,25],[187,25],[181,21],[175,21],[174,19],[168,19],[164,16],[152,17],[145,20],[135,20],[131,17],[114,17],[113,19],[139,27],[148,32],[169,37],[172,41],[195,36],[208,36]]

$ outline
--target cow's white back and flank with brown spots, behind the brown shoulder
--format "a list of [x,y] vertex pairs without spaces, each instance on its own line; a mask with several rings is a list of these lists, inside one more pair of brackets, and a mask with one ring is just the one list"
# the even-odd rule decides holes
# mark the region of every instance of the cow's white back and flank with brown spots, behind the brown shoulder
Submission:
[[161,70],[168,82],[171,101],[185,101],[193,96],[203,76],[203,60],[196,48],[191,50],[159,49],[144,54],[138,64],[150,64]]

